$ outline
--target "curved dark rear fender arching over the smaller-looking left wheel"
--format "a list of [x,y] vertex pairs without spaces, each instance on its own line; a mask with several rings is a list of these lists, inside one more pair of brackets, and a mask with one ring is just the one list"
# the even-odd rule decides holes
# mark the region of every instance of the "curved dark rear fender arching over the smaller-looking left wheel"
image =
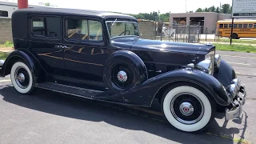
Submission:
[[34,58],[34,55],[26,49],[14,50],[8,55],[2,66],[3,77],[10,74],[11,67],[13,66],[14,62],[18,60],[26,62],[35,78],[37,78],[36,82],[40,82],[42,80],[41,78],[45,78],[45,71],[42,69],[42,66],[39,64],[38,60]]

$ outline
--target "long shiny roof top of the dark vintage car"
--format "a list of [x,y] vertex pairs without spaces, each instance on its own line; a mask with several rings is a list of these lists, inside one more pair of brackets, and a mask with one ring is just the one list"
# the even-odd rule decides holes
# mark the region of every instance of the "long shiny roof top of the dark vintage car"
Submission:
[[68,8],[53,8],[53,7],[34,7],[16,10],[14,14],[17,13],[27,13],[27,14],[74,14],[74,15],[85,15],[98,18],[130,18],[136,19],[128,14],[118,14],[113,12],[101,11],[101,10],[80,10],[80,9],[68,9]]

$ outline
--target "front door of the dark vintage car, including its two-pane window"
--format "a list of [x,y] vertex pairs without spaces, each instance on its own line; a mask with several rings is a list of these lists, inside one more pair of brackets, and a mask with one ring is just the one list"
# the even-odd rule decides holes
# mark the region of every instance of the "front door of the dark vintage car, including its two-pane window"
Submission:
[[63,40],[66,74],[69,78],[102,82],[106,42],[97,18],[65,18]]

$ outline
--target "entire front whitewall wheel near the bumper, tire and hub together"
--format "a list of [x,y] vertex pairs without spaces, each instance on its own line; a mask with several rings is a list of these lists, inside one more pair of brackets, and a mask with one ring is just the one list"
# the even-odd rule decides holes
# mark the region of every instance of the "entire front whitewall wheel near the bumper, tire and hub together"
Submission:
[[214,118],[215,103],[198,86],[179,85],[166,90],[162,112],[172,126],[186,132],[205,130]]

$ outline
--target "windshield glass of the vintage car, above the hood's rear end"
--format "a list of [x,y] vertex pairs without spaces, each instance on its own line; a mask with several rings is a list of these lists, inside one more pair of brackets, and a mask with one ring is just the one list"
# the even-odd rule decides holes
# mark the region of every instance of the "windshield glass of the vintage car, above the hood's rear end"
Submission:
[[107,21],[110,38],[118,36],[139,36],[138,23],[127,21]]

